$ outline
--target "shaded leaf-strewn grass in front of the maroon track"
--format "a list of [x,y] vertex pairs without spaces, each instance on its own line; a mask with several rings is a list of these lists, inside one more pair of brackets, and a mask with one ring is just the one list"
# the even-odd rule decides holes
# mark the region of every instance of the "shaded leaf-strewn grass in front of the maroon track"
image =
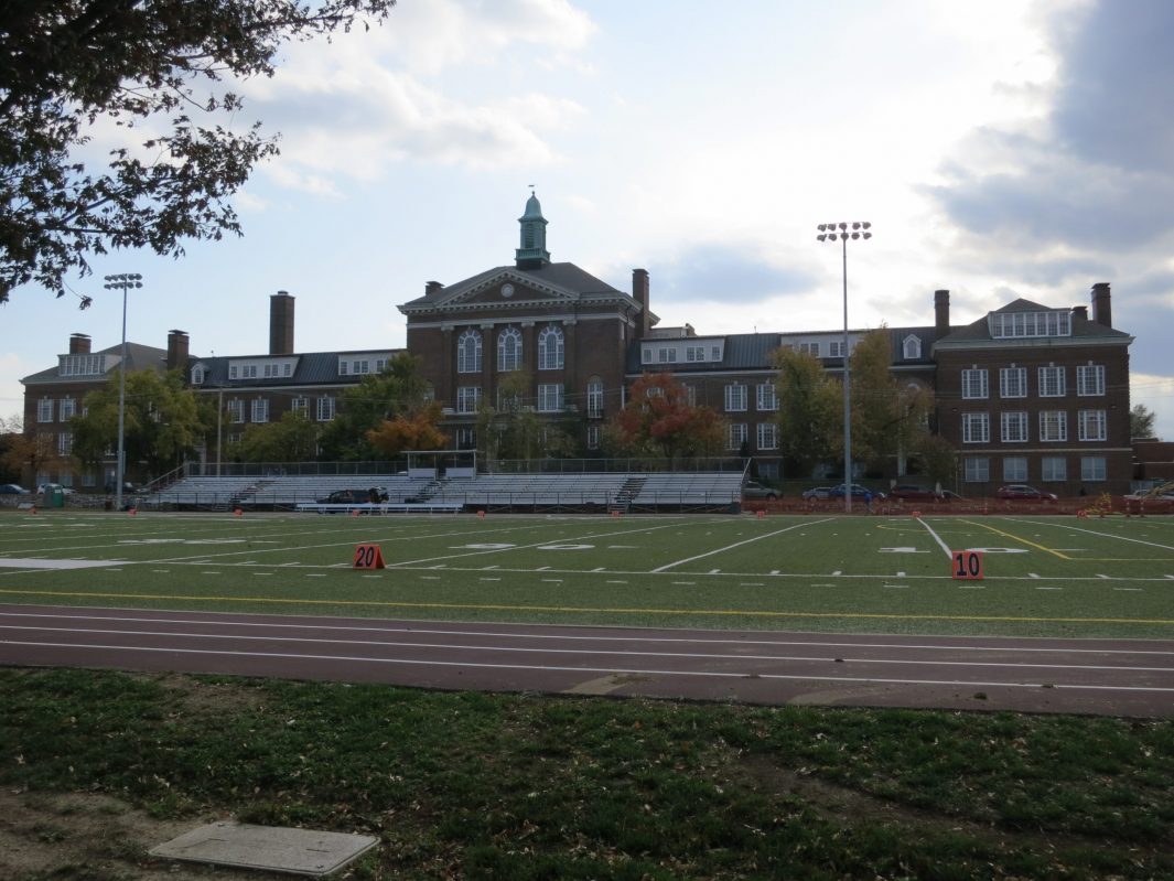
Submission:
[[[65,670],[0,670],[0,784],[23,803],[379,836],[344,877],[1174,877],[1166,720]],[[70,822],[23,833],[59,860],[15,862],[16,841],[0,872],[228,876],[148,856],[166,838],[79,856]]]

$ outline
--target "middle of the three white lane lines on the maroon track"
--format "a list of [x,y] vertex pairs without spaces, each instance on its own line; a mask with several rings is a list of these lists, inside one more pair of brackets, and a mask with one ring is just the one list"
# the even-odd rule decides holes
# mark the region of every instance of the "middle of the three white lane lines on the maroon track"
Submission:
[[[137,631],[137,630],[100,630],[100,628],[70,628],[63,627],[34,627],[0,625],[0,630],[13,630],[21,632],[47,632],[47,633],[86,633],[116,637],[157,637],[161,639],[232,639],[248,640],[250,643],[304,643],[308,645],[338,645],[337,639],[318,639],[315,637],[238,637],[224,633],[176,633],[174,631]],[[0,645],[22,645],[15,640],[0,640]],[[564,655],[620,655],[623,658],[686,658],[688,660],[748,660],[748,661],[788,661],[792,664],[876,664],[890,666],[942,666],[942,667],[999,667],[1006,670],[1094,670],[1094,671],[1128,671],[1138,673],[1174,673],[1174,667],[1136,667],[1113,664],[1025,664],[1020,661],[969,661],[969,660],[902,660],[893,658],[853,658],[851,655],[805,655],[805,654],[743,654],[727,652],[632,652],[620,648],[561,648],[558,646],[505,646],[505,645],[468,645],[465,643],[418,643],[398,640],[376,639],[351,639],[348,646],[365,646],[375,648],[431,648],[443,652],[507,652],[515,654],[564,654]],[[88,647],[79,645],[79,647]],[[137,646],[127,646],[137,647]],[[187,651],[187,650],[180,650]],[[262,653],[264,654],[264,653]],[[313,657],[313,655],[310,655]],[[1172,688],[1174,691],[1174,688]]]

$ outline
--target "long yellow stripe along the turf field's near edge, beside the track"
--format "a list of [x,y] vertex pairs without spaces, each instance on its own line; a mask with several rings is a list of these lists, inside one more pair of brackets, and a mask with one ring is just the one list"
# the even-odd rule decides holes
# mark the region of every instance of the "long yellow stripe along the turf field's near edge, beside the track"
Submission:
[[89,599],[150,599],[189,603],[258,603],[312,606],[383,606],[387,608],[461,608],[493,612],[606,612],[608,614],[728,616],[735,618],[866,618],[898,621],[1020,621],[1035,624],[1161,624],[1167,618],[1025,618],[987,614],[884,614],[879,612],[768,612],[736,608],[614,608],[607,606],[508,606],[490,603],[394,603],[360,599],[279,599],[275,597],[187,597],[155,593],[96,593],[85,591],[11,591],[0,593],[26,597],[86,597]]

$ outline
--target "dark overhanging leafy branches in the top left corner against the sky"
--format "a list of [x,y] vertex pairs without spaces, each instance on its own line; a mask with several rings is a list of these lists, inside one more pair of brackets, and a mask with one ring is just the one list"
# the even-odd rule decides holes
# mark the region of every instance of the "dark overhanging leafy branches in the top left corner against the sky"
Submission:
[[[0,302],[35,281],[63,294],[87,254],[241,227],[229,197],[277,153],[232,80],[271,76],[282,46],[384,19],[394,0],[16,0],[0,26]],[[202,117],[204,125],[196,121]],[[217,121],[218,120],[218,121]],[[86,144],[116,126],[107,160]],[[88,300],[82,300],[82,308]]]

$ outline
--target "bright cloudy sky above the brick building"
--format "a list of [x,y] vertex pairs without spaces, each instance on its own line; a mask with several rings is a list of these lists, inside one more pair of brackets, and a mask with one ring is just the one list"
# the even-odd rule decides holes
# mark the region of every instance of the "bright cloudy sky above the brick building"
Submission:
[[244,237],[120,253],[0,308],[0,415],[73,332],[119,342],[109,273],[141,273],[128,337],[299,351],[404,345],[396,305],[508,264],[537,189],[555,261],[701,334],[953,323],[1012,298],[1089,304],[1136,337],[1132,403],[1174,439],[1174,4],[1168,0],[400,0],[382,27],[288,49],[247,83],[282,155],[236,201]]

